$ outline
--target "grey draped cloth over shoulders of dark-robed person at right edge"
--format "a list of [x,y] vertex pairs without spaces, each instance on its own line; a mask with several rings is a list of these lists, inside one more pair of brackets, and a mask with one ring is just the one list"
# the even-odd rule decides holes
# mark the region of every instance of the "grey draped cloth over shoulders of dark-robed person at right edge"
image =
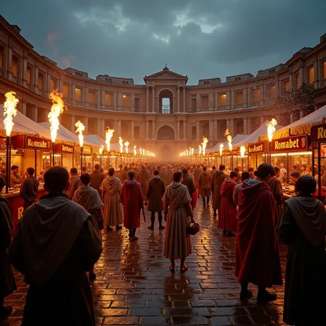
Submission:
[[292,197],[285,202],[305,237],[318,247],[325,241],[326,210],[322,202],[313,197]]

